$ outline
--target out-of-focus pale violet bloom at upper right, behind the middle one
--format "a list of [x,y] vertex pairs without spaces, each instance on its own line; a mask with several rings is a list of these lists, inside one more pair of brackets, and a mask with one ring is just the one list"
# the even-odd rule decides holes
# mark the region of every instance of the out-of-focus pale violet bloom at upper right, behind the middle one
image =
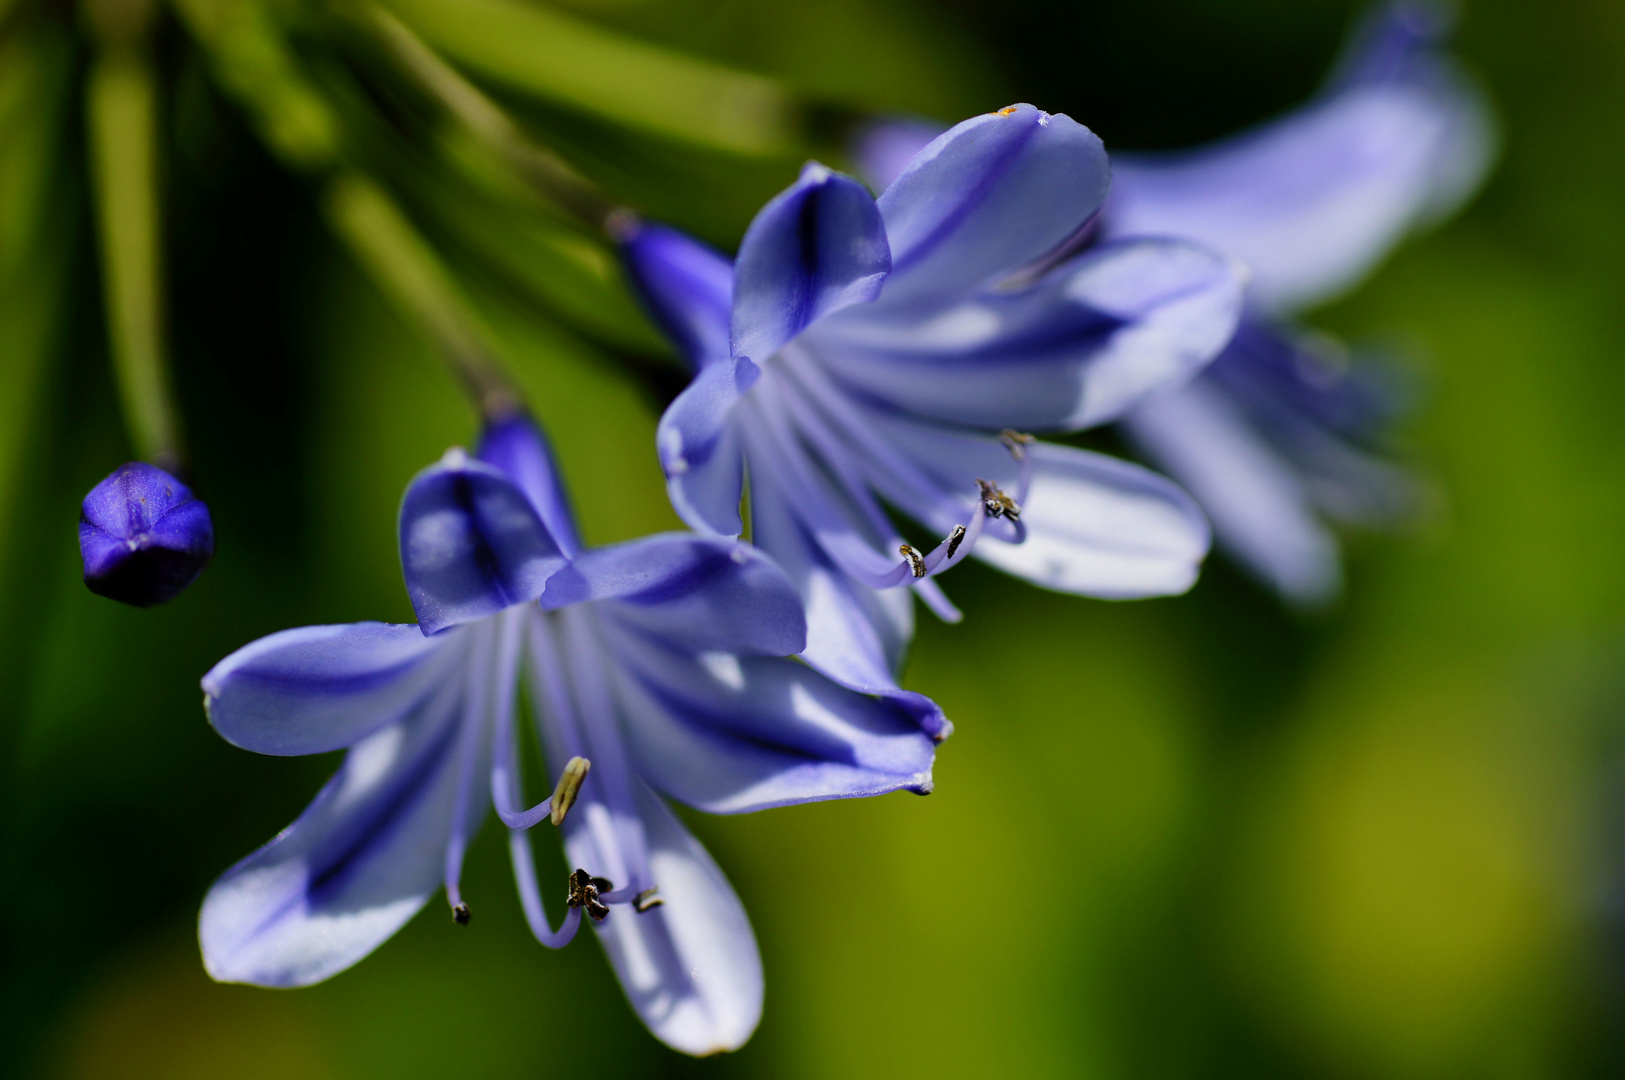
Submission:
[[[1220,546],[1295,603],[1341,586],[1328,520],[1381,525],[1415,503],[1415,484],[1380,453],[1401,404],[1393,380],[1287,318],[1357,284],[1484,177],[1488,110],[1441,55],[1445,31],[1432,5],[1384,5],[1298,112],[1194,151],[1113,154],[1112,195],[1081,237],[1185,237],[1253,271],[1224,354],[1131,411],[1123,430],[1196,495]],[[884,182],[933,135],[879,125],[860,158]]]

